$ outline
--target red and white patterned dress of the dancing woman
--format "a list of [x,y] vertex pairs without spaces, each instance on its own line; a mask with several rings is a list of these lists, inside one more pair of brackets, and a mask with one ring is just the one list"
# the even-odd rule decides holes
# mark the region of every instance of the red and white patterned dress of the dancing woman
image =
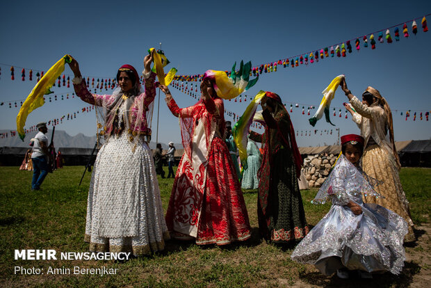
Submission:
[[223,245],[251,236],[238,175],[222,135],[222,99],[201,100],[180,109],[167,99],[179,117],[184,154],[170,196],[166,223],[177,239]]

